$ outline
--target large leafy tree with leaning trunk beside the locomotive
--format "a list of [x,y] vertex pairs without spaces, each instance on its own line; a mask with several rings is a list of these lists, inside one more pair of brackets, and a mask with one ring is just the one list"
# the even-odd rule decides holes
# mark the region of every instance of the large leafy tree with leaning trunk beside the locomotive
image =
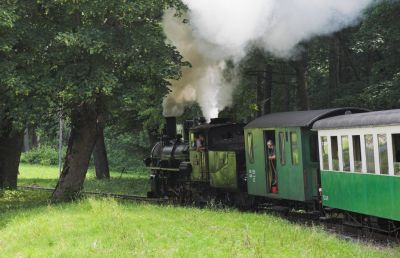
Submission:
[[[52,31],[45,51],[57,102],[71,133],[53,199],[69,200],[82,188],[103,124],[103,107],[139,101],[145,89],[166,92],[178,78],[181,56],[165,44],[163,10],[175,1],[39,1]],[[178,3],[179,4],[179,3]],[[102,99],[102,103],[99,103]],[[137,111],[136,111],[137,113]]]

